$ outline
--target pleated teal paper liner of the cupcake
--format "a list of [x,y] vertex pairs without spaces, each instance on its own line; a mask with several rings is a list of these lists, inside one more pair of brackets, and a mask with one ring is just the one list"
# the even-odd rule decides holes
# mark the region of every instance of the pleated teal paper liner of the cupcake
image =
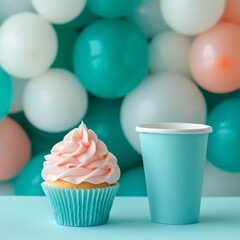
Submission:
[[106,224],[119,188],[65,189],[42,183],[56,222],[64,226],[90,227]]

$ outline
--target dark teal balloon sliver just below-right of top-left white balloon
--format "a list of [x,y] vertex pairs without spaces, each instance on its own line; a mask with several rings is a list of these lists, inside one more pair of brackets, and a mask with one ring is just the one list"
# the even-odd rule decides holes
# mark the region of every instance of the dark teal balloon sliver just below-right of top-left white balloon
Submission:
[[64,24],[63,26],[75,29],[81,29],[86,25],[94,22],[97,20],[98,17],[89,11],[88,7],[86,6],[84,10],[79,14],[76,18],[74,18],[71,22]]

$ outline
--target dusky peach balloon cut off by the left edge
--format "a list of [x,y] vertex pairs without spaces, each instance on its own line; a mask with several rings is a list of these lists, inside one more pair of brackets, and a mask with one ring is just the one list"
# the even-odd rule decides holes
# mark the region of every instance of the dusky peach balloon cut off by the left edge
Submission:
[[15,177],[30,158],[30,141],[9,117],[0,121],[0,181]]

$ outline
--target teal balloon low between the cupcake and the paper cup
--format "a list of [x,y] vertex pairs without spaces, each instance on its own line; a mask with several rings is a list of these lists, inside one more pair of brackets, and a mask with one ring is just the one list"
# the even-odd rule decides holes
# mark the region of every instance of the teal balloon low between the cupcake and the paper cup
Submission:
[[119,180],[118,196],[147,196],[146,180],[142,166],[124,172]]

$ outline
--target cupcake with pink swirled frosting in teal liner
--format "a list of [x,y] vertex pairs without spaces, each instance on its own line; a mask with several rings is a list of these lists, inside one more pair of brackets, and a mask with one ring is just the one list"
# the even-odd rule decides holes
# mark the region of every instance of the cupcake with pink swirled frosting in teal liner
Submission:
[[65,226],[107,223],[119,184],[116,157],[82,122],[45,156],[42,188]]

